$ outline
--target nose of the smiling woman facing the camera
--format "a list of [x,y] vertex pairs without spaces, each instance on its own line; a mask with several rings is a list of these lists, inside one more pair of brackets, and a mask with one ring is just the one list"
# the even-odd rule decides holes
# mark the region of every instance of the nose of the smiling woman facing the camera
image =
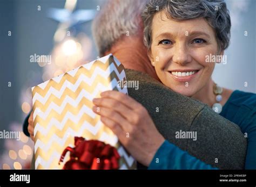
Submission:
[[172,61],[174,63],[179,63],[185,65],[186,63],[191,62],[192,57],[188,53],[188,49],[185,45],[178,45],[174,47],[174,54],[172,56]]

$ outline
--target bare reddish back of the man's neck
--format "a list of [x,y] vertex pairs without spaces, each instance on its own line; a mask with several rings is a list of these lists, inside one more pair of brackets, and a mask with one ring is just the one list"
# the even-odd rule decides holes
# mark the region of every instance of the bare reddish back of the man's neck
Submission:
[[142,42],[142,38],[124,36],[105,55],[109,53],[116,56],[126,69],[147,73],[159,81],[156,70],[154,70],[149,57],[147,57],[147,49]]

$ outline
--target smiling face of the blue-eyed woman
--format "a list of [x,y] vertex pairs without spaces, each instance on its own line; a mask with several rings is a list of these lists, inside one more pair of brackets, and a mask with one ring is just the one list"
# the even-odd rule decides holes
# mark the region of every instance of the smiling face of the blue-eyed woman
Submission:
[[190,97],[208,83],[214,63],[206,62],[206,56],[217,55],[219,48],[204,18],[175,21],[159,12],[151,37],[149,57],[163,84]]

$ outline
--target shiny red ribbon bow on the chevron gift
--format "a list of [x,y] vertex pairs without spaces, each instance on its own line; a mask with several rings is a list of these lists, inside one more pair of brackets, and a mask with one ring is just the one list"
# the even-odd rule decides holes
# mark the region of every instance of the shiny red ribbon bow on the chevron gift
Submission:
[[85,140],[75,137],[75,147],[66,147],[60,156],[59,163],[67,152],[70,160],[63,169],[118,169],[120,156],[117,149],[98,140]]

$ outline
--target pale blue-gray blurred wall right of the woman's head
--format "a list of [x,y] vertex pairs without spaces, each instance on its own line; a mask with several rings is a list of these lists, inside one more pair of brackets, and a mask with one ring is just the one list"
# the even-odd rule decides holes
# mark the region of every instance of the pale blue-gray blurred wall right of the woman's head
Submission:
[[256,92],[256,1],[228,0],[231,44],[226,64],[216,64],[213,80],[223,87]]

